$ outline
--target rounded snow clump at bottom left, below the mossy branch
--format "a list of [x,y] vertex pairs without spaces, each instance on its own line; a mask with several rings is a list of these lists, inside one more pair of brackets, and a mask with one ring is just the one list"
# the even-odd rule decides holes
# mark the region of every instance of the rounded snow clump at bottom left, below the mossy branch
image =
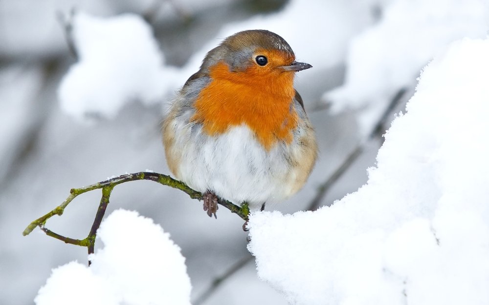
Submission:
[[190,279],[180,248],[151,219],[116,210],[101,224],[104,248],[92,264],[70,262],[52,271],[37,305],[190,305]]

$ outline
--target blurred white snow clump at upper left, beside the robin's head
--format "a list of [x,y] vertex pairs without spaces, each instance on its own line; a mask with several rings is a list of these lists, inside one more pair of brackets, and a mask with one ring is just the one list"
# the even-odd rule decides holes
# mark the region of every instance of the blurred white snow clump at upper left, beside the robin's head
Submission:
[[161,102],[170,75],[163,70],[151,27],[140,16],[97,18],[78,13],[72,33],[79,59],[58,92],[68,114],[80,120],[113,118],[127,102]]

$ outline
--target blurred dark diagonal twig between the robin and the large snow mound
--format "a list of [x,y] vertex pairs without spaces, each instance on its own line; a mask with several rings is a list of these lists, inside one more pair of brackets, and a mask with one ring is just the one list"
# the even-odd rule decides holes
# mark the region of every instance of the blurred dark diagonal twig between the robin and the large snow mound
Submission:
[[[367,141],[372,141],[373,139],[376,139],[383,135],[383,133],[385,132],[385,124],[390,118],[391,112],[402,100],[402,97],[404,96],[406,91],[406,88],[401,88],[392,98],[391,102],[385,108],[377,123],[372,128],[372,131],[367,137]],[[343,174],[352,166],[353,163],[355,163],[356,159],[358,159],[361,153],[365,150],[365,145],[367,141],[359,142],[355,146],[355,148],[348,154],[345,160],[343,160],[343,162],[333,171],[333,174],[331,174],[325,182],[321,183],[321,185],[317,189],[316,196],[314,196],[311,203],[309,204],[308,210],[314,211],[319,207],[323,198],[326,196],[334,183],[336,183],[336,181],[338,181],[338,179],[343,176]]]

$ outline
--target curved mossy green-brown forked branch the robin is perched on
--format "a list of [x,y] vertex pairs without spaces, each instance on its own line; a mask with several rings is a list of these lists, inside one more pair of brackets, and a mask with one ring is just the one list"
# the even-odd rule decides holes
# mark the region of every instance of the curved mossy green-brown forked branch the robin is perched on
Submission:
[[[40,218],[36,219],[32,223],[30,223],[25,230],[22,232],[22,235],[28,235],[32,230],[34,230],[37,226],[43,230],[46,235],[59,239],[67,244],[75,244],[79,246],[84,246],[88,248],[88,252],[93,253],[94,246],[95,246],[95,237],[97,234],[97,229],[100,227],[100,224],[102,222],[102,219],[104,218],[105,211],[107,209],[107,205],[109,204],[112,189],[121,183],[126,183],[130,181],[135,181],[135,180],[150,180],[154,181],[163,185],[167,185],[176,189],[179,189],[185,193],[187,193],[190,198],[192,199],[198,199],[202,200],[203,194],[188,187],[185,183],[180,182],[178,180],[173,179],[170,176],[163,175],[163,174],[158,174],[158,173],[153,173],[153,172],[139,172],[139,173],[133,173],[133,174],[126,174],[126,175],[121,175],[115,178],[108,179],[106,181],[98,182],[95,184],[91,184],[89,186],[84,186],[81,188],[72,188],[69,191],[69,196],[67,199],[55,207],[52,211],[48,212],[44,216],[41,216]],[[69,237],[65,237],[63,235],[60,235],[58,233],[55,233],[45,227],[46,221],[53,217],[54,215],[63,215],[63,212],[65,211],[65,208],[68,206],[73,199],[75,199],[78,195],[81,195],[83,193],[93,191],[96,189],[102,189],[102,198],[100,199],[100,204],[97,209],[97,213],[95,214],[95,219],[93,220],[93,224],[90,228],[89,234],[86,238],[82,240],[78,239],[72,239]],[[219,199],[219,204],[222,206],[226,207],[229,209],[232,213],[237,214],[239,217],[241,217],[244,221],[248,220],[248,214],[249,214],[249,208],[247,203],[241,204],[241,206],[238,206],[236,204],[233,204],[227,200],[222,200]]]

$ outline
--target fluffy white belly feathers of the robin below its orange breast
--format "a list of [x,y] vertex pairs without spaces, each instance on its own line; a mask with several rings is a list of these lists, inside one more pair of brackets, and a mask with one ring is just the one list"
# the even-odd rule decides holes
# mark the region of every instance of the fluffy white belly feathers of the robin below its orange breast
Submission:
[[199,133],[201,129],[182,143],[177,176],[190,187],[212,190],[236,204],[247,201],[252,208],[291,195],[289,182],[295,175],[281,145],[266,151],[243,125],[214,137]]

